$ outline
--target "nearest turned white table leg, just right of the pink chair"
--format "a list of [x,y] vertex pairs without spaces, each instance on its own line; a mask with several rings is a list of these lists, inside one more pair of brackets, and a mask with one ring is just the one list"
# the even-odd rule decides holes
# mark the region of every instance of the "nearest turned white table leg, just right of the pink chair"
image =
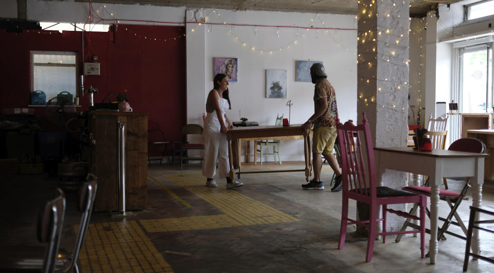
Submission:
[[[439,162],[437,162],[439,163]],[[440,164],[437,164],[440,165]],[[438,167],[439,169],[440,167]],[[437,242],[437,221],[439,211],[439,184],[442,181],[442,177],[440,177],[440,170],[436,170],[434,175],[429,176],[429,185],[431,186],[431,239],[429,241],[429,255],[430,255],[430,263],[436,263],[436,254],[438,249]]]

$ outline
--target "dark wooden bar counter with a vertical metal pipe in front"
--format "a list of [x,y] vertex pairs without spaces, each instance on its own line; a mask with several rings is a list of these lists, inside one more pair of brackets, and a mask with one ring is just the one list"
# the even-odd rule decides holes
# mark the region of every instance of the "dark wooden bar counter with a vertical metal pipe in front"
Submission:
[[95,143],[91,149],[91,171],[98,177],[95,211],[119,210],[118,149],[119,126],[123,122],[125,136],[125,210],[143,210],[148,204],[147,113],[93,111],[89,114],[89,130]]

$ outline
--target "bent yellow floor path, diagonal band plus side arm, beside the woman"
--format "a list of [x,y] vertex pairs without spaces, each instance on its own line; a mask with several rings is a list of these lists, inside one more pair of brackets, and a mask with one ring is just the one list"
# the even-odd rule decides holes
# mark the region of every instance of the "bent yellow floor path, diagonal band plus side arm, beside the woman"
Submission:
[[[164,176],[166,179],[183,186],[185,189],[204,199],[204,201],[217,207],[226,216],[230,217],[233,222],[227,221],[223,215],[204,216],[204,218],[196,216],[140,221],[147,232],[218,228],[231,225],[232,223],[240,223],[241,225],[248,226],[299,221],[295,217],[245,196],[237,190],[226,190],[225,186],[208,188],[205,186],[204,177],[199,173],[187,172],[164,174]],[[180,224],[174,225],[174,221],[183,221],[187,225],[182,229],[178,229]]]

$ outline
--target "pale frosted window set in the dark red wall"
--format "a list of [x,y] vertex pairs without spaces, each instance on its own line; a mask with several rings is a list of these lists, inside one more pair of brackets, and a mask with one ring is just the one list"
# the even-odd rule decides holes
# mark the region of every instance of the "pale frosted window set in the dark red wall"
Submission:
[[46,101],[61,92],[77,95],[77,52],[31,51],[31,92],[41,90]]

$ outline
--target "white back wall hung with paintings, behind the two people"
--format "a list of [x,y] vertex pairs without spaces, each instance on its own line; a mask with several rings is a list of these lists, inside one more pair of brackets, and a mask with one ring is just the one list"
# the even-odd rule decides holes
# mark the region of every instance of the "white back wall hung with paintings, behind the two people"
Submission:
[[[220,16],[217,14],[220,13]],[[206,23],[233,23],[274,26],[310,26],[338,27],[354,29],[355,15],[334,15],[297,12],[268,11],[228,11],[213,12],[205,9]],[[314,22],[311,22],[314,19]],[[319,19],[320,18],[320,19]],[[322,24],[324,22],[324,24]],[[188,24],[190,25],[190,24]],[[189,26],[188,26],[189,28]],[[304,123],[313,113],[314,85],[310,82],[296,82],[295,69],[297,60],[322,61],[326,67],[328,80],[336,89],[338,110],[342,121],[357,118],[357,71],[356,71],[356,30],[306,30],[295,28],[201,25],[194,24],[198,33],[204,29],[206,35],[206,61],[204,86],[205,97],[213,88],[213,58],[238,58],[238,80],[231,82],[230,98],[232,110],[226,115],[232,121],[242,117],[257,121],[260,125],[273,125],[276,116],[288,118],[291,100],[291,124]],[[232,32],[231,32],[232,31]],[[257,36],[256,36],[257,32]],[[195,35],[189,32],[189,37]],[[279,38],[278,38],[279,34]],[[236,39],[238,38],[238,39]],[[187,40],[187,46],[192,46]],[[296,44],[295,44],[296,41]],[[243,45],[245,44],[245,45]],[[193,45],[196,46],[196,45]],[[288,47],[289,46],[289,47]],[[254,50],[252,49],[254,47]],[[279,50],[279,49],[282,50]],[[263,50],[261,52],[260,50]],[[272,51],[272,53],[270,53]],[[197,57],[197,58],[196,58]],[[187,55],[187,67],[200,65],[198,56]],[[288,75],[288,92],[286,99],[266,98],[266,69],[284,69]],[[188,75],[187,84],[202,81],[202,77]],[[194,94],[192,90],[188,90]],[[187,120],[190,123],[202,122],[205,112],[205,100],[201,108],[188,108]],[[285,161],[303,160],[303,142],[301,140],[281,141],[281,158]],[[270,148],[268,148],[270,149]],[[253,159],[253,152],[251,152]],[[263,160],[273,161],[273,157]]]

